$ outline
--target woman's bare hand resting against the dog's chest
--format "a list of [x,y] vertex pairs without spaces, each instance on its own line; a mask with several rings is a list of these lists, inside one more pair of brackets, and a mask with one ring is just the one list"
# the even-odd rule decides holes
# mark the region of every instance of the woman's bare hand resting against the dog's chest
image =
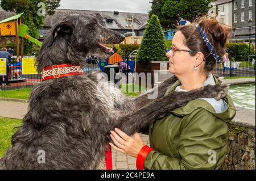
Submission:
[[136,132],[133,134],[133,136],[128,136],[118,128],[115,128],[114,130],[115,131],[110,131],[110,137],[115,145],[113,145],[111,142],[110,145],[113,146],[115,150],[132,157],[137,157],[139,151],[141,151],[142,147],[144,146],[139,133]]

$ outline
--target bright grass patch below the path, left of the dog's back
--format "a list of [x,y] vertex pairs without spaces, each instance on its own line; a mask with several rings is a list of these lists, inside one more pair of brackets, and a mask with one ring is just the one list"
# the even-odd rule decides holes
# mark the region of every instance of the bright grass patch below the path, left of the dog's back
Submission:
[[11,137],[22,125],[22,120],[0,117],[0,158],[11,146]]

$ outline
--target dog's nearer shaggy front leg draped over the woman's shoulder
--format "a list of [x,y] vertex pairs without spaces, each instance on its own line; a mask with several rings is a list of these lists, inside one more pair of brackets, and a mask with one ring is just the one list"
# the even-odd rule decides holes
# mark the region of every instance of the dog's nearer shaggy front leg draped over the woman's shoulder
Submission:
[[151,120],[155,120],[160,115],[164,115],[177,107],[184,106],[190,100],[198,98],[215,98],[219,100],[227,92],[228,86],[225,85],[207,85],[193,91],[172,92],[167,96],[154,100],[148,106],[120,116],[117,120],[116,127],[130,136],[139,129],[146,127]]

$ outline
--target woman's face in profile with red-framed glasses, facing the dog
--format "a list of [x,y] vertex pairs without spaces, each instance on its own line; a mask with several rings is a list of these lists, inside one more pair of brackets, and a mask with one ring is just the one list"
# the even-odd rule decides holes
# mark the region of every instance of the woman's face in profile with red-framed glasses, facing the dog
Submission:
[[[185,37],[181,31],[177,31],[172,40],[172,47],[174,49],[183,49],[189,50],[189,48],[184,45]],[[189,52],[174,50],[173,48],[166,53],[166,56],[169,57],[170,67],[169,71],[175,75],[184,75],[194,71],[193,62],[195,58],[192,57]]]

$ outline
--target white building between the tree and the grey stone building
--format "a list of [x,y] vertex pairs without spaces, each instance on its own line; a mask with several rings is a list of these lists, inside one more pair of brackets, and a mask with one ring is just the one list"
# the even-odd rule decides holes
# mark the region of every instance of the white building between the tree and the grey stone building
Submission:
[[228,26],[232,26],[232,1],[233,0],[218,0],[214,2],[218,7],[218,22],[227,24]]

